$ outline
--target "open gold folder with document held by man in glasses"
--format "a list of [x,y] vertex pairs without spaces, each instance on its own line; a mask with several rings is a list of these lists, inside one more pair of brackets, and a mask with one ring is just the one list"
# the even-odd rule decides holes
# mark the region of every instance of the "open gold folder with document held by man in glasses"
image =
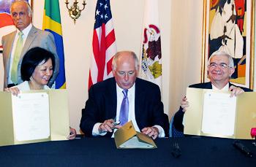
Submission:
[[230,98],[229,92],[187,88],[189,107],[184,114],[184,133],[232,139],[252,139],[256,125],[256,93]]

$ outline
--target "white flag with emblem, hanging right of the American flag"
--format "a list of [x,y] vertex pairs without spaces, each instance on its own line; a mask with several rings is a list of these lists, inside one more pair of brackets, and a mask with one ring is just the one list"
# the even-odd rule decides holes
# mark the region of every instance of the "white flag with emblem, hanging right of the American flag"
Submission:
[[158,0],[146,0],[140,77],[159,85],[162,90],[162,53]]

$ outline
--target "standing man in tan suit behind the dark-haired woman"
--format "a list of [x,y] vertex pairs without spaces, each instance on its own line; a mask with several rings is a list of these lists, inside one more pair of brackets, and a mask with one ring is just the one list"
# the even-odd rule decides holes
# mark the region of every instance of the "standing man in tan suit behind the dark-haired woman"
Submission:
[[[42,47],[51,53],[56,58],[56,69],[53,71],[53,77],[50,79],[48,86],[53,85],[54,80],[59,72],[59,57],[56,53],[56,46],[53,35],[49,32],[39,30],[31,24],[32,11],[31,7],[26,1],[15,1],[10,8],[12,21],[17,28],[16,31],[2,37],[3,44],[3,59],[4,59],[4,88],[18,85],[23,80],[20,77],[20,66],[23,55],[33,47]],[[23,36],[23,48],[20,53],[20,59],[17,66],[17,81],[12,81],[12,61],[15,54],[15,48],[19,38],[19,32]],[[8,86],[9,85],[9,86]]]

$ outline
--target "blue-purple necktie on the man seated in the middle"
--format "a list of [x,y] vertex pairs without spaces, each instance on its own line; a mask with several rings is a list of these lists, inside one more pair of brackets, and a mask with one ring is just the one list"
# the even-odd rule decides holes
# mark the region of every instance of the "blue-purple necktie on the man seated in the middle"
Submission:
[[124,93],[124,98],[123,98],[123,101],[121,102],[119,120],[121,122],[120,124],[124,125],[125,123],[128,122],[129,101],[127,97],[128,90],[125,89],[122,92]]

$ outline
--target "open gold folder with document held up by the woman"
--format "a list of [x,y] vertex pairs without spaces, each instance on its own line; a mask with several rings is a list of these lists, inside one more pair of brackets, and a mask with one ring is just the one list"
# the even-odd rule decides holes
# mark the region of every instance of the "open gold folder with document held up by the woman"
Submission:
[[0,92],[0,146],[66,140],[67,102],[67,90]]

